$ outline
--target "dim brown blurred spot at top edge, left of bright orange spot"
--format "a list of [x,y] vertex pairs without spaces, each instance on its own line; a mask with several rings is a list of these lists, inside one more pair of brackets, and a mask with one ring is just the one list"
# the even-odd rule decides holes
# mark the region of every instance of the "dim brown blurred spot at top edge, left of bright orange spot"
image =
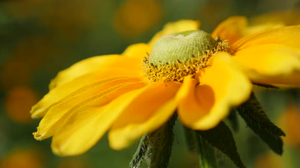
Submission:
[[57,1],[47,4],[40,14],[40,23],[59,36],[77,40],[80,33],[99,22],[98,1]]

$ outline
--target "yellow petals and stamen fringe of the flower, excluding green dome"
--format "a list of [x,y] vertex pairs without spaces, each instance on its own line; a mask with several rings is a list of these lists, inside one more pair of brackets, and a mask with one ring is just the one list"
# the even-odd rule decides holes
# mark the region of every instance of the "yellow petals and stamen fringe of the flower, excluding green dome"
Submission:
[[185,62],[151,62],[148,53],[156,53],[152,48],[166,34],[198,29],[196,21],[169,23],[148,44],[88,58],[59,72],[32,108],[33,118],[43,117],[35,138],[53,137],[54,153],[77,155],[108,132],[110,147],[121,150],[160,128],[174,111],[193,130],[214,128],[232,107],[249,99],[252,82],[299,86],[300,26],[263,27],[248,34],[246,22],[228,18],[212,33],[215,47],[207,44]]

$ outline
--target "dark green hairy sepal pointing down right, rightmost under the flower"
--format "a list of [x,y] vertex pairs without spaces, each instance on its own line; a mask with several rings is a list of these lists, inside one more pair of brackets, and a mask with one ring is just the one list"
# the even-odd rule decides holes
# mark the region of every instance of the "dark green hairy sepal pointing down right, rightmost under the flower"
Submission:
[[269,120],[254,93],[250,99],[237,108],[248,127],[256,133],[275,153],[282,154],[285,133]]

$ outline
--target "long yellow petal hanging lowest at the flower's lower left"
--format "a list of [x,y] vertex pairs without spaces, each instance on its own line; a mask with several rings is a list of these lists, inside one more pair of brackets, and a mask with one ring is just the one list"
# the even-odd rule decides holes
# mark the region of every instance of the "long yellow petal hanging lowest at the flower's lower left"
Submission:
[[[123,87],[128,89],[128,86]],[[79,155],[92,148],[124,108],[145,88],[129,91],[105,106],[96,103],[69,115],[53,135],[51,148],[58,155]]]

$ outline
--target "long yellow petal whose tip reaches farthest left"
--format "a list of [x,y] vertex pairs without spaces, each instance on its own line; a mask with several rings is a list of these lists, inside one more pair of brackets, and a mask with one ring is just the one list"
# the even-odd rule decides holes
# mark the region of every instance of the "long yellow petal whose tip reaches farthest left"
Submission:
[[[49,91],[31,110],[33,118],[45,115],[50,106],[66,100],[78,93],[91,89],[93,86],[100,85],[114,77],[140,76],[141,72],[133,69],[124,68],[105,68],[100,71],[79,76],[64,85],[60,85]],[[110,78],[110,79],[107,79]],[[101,80],[102,79],[102,80]]]

